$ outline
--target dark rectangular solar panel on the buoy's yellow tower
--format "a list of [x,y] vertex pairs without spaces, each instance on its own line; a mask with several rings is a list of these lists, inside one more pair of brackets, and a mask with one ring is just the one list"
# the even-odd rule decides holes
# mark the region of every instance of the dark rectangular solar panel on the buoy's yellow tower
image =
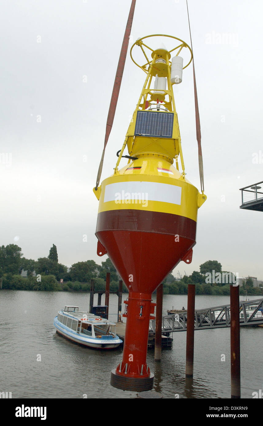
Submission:
[[138,111],[135,136],[159,136],[171,138],[173,135],[173,112]]

